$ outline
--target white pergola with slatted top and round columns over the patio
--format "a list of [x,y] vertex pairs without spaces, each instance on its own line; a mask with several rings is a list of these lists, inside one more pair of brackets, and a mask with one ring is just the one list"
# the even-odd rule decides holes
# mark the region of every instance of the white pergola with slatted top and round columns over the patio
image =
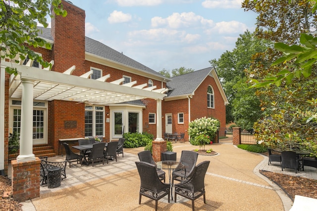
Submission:
[[[17,157],[18,162],[35,160],[32,152],[33,100],[66,100],[89,102],[96,105],[113,105],[115,103],[151,98],[157,101],[157,116],[161,117],[161,100],[166,96],[165,92],[168,90],[167,88],[156,89],[156,86],[148,87],[147,84],[133,86],[137,84],[136,81],[121,84],[124,80],[123,78],[106,82],[110,79],[110,75],[103,76],[97,80],[91,80],[92,71],[81,76],[72,75],[75,66],[72,66],[63,73],[59,73],[50,71],[50,69],[32,67],[32,63],[32,60],[29,60],[26,65],[22,65],[22,61],[20,64],[1,61],[1,76],[4,76],[5,67],[13,67],[18,71],[18,75],[15,76],[12,74],[10,76],[9,82],[9,97],[22,99],[20,154]],[[51,63],[53,64],[53,61]],[[2,80],[2,77],[0,78]],[[1,83],[0,86],[2,88]],[[4,99],[2,100],[4,101]],[[4,102],[0,103],[4,104]],[[2,117],[1,115],[0,117]],[[156,140],[163,140],[161,131],[161,119],[157,118]],[[0,131],[3,137],[4,131],[2,132]]]

